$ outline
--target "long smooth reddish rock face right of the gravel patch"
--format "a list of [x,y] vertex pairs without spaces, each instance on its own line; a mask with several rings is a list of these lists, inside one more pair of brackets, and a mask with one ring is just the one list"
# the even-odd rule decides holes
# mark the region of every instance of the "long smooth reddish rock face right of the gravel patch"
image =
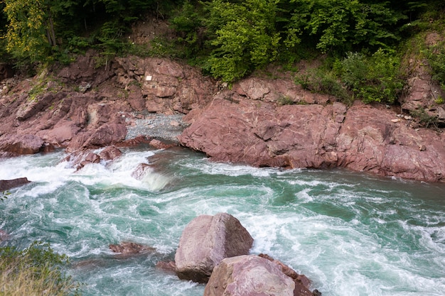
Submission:
[[179,137],[214,160],[444,181],[445,136],[360,102],[275,106],[225,92]]

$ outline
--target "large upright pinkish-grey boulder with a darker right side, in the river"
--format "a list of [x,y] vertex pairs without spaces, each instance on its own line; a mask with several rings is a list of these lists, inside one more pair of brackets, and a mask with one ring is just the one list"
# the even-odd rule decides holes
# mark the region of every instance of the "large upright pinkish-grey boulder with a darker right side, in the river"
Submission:
[[246,255],[253,239],[234,216],[200,215],[184,229],[175,255],[176,273],[183,280],[206,283],[224,258]]

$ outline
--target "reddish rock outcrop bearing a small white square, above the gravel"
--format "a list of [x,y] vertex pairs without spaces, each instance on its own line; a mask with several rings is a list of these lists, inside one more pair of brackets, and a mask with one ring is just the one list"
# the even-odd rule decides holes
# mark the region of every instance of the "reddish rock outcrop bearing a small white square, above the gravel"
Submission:
[[[117,82],[130,90],[129,102],[136,109],[186,114],[207,104],[211,98],[209,94],[215,92],[212,80],[200,75],[197,69],[173,60],[125,57],[116,61],[119,65]],[[134,87],[135,84],[138,87]],[[145,98],[144,102],[139,99],[141,97]]]

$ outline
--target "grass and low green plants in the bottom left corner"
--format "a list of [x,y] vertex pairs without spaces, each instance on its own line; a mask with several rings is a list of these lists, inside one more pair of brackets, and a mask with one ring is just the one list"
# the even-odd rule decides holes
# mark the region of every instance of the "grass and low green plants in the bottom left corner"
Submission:
[[68,257],[49,243],[34,242],[23,251],[0,248],[1,295],[80,295],[79,285],[63,273]]

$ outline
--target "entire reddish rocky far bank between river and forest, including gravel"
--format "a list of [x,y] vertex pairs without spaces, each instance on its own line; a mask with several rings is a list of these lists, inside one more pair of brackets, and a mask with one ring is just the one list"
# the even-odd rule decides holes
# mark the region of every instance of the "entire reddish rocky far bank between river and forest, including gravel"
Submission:
[[0,151],[85,153],[156,139],[233,163],[444,182],[445,136],[408,116],[423,110],[444,121],[444,106],[434,104],[440,88],[424,67],[412,73],[402,107],[346,106],[286,78],[250,77],[228,89],[172,60],[125,57],[96,69],[88,53],[63,69],[2,81]]

